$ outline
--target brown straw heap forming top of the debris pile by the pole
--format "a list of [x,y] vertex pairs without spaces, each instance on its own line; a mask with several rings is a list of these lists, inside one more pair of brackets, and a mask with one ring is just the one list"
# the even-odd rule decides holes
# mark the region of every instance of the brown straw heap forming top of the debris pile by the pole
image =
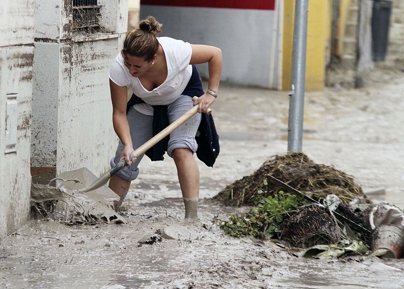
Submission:
[[267,197],[285,190],[267,179],[268,174],[316,200],[332,194],[346,205],[356,197],[365,197],[354,177],[332,166],[316,164],[303,153],[293,152],[271,157],[256,172],[226,186],[214,199],[227,206],[255,205],[259,191],[264,191]]

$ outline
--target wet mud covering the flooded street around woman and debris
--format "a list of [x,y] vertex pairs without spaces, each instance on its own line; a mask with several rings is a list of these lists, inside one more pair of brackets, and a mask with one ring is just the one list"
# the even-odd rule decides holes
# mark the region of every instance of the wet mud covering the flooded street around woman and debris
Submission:
[[[354,176],[365,194],[404,208],[404,73],[361,89],[305,95],[303,152]],[[200,169],[199,221],[185,221],[172,159],[144,158],[123,204],[127,224],[67,226],[31,220],[0,243],[4,288],[402,288],[404,259],[295,257],[273,242],[224,235],[215,217],[231,208],[209,199],[287,151],[287,91],[223,84],[212,107],[221,152]],[[106,156],[106,163],[108,157]],[[376,190],[385,194],[375,194]],[[186,234],[139,244],[174,226]],[[189,235],[188,235],[189,233]]]

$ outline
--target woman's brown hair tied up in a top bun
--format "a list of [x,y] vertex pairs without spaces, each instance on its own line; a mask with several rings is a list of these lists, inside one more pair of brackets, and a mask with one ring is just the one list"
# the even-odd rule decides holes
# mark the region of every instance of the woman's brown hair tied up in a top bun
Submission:
[[143,57],[145,61],[153,59],[159,49],[157,35],[161,32],[160,24],[153,16],[148,16],[139,23],[139,28],[126,34],[123,41],[122,56],[126,54]]

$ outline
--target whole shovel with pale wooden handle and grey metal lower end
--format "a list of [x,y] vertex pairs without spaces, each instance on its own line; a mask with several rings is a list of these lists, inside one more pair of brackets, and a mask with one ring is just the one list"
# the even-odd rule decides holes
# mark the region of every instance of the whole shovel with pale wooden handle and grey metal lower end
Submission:
[[[197,97],[193,97],[192,100],[194,101],[197,99]],[[154,137],[150,138],[147,140],[145,143],[143,143],[142,146],[140,146],[136,151],[134,151],[129,159],[132,160],[133,158],[137,158],[140,155],[143,155],[148,149],[156,145],[160,140],[162,140],[164,137],[169,135],[174,129],[179,127],[181,124],[186,122],[188,119],[190,119],[192,116],[194,116],[198,111],[198,106],[194,106],[190,110],[188,110],[186,113],[184,113],[182,116],[180,116],[177,120],[175,120],[173,123],[171,123],[169,126],[167,126],[165,129],[160,131],[158,134],[156,134]],[[212,110],[208,109],[207,114],[211,114]],[[81,188],[78,190],[78,192],[89,192],[96,190],[103,185],[107,183],[107,181],[118,171],[123,169],[125,166],[127,166],[127,163],[125,160],[120,161],[118,164],[116,164],[112,169],[106,171],[102,176],[100,176],[98,179],[96,179],[93,183],[91,183],[89,186]]]

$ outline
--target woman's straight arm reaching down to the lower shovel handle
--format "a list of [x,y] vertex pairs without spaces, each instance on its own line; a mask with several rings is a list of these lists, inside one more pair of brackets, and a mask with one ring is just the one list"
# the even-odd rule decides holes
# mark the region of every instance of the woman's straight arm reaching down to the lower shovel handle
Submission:
[[123,144],[123,151],[119,160],[125,159],[127,164],[130,154],[133,152],[132,138],[130,136],[129,123],[126,118],[127,87],[119,86],[110,79],[111,100],[112,100],[112,122],[115,132]]

